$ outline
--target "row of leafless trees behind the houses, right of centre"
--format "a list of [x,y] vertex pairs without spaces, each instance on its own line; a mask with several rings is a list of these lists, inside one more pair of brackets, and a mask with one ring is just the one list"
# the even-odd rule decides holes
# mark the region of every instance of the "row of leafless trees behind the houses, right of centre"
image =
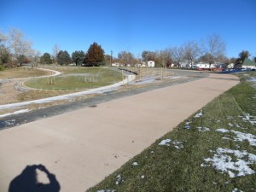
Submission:
[[207,63],[228,62],[225,56],[225,43],[218,35],[212,35],[201,40],[201,43],[189,41],[181,46],[169,47],[166,49],[149,51],[143,50],[141,59],[137,59],[131,52],[121,51],[118,58],[114,61],[120,63],[135,64],[138,60],[155,61],[156,66],[169,66],[172,63],[179,66],[182,62],[189,64],[195,61],[203,61]]

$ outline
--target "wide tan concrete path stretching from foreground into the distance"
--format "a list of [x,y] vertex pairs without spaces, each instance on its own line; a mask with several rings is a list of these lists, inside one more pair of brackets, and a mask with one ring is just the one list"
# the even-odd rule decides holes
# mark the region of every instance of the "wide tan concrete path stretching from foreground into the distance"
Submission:
[[[26,166],[42,164],[62,192],[83,192],[238,83],[210,74],[0,131],[1,191]],[[38,179],[47,180],[42,172]]]

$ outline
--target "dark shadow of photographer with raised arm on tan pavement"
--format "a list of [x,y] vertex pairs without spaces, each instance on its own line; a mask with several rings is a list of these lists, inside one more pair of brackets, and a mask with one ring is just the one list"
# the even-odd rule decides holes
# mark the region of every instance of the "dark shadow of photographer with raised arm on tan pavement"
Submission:
[[[37,170],[46,174],[49,183],[38,182]],[[60,189],[60,183],[55,175],[43,165],[26,166],[9,184],[9,192],[59,192]]]

